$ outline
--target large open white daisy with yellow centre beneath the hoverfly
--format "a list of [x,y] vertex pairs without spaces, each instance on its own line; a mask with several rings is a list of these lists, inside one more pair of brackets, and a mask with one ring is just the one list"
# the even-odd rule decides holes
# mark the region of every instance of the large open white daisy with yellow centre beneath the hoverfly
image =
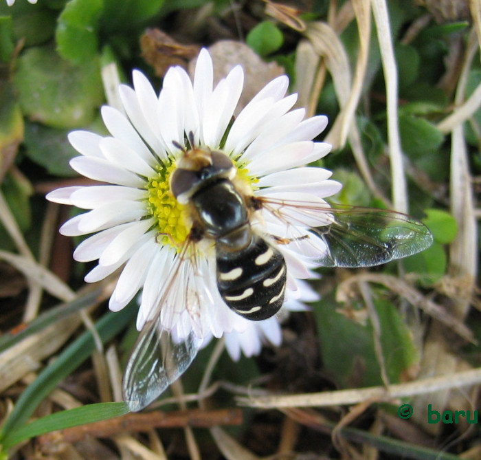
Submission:
[[[322,197],[337,193],[341,185],[328,180],[330,171],[304,167],[331,149],[328,144],[312,141],[326,127],[327,119],[315,116],[304,120],[304,109],[292,110],[296,95],[285,96],[287,76],[266,85],[232,122],[243,89],[243,69],[232,69],[215,88],[212,75],[207,50],[199,54],[193,82],[183,69],[172,67],[159,96],[146,77],[134,71],[134,88],[120,87],[126,115],[102,107],[110,136],[87,131],[69,135],[81,154],[71,160],[72,168],[108,185],[60,188],[49,193],[48,199],[89,210],[67,221],[60,230],[69,236],[93,234],[74,252],[77,261],[98,259],[85,281],[99,281],[124,265],[110,309],[122,309],[142,290],[137,316],[137,328],[142,329],[152,319],[162,292],[171,289],[175,301],[162,306],[161,327],[181,338],[192,330],[199,338],[226,333],[227,348],[238,358],[240,350],[248,355],[258,353],[261,340],[278,344],[280,326],[277,318],[253,322],[225,305],[216,288],[211,240],[195,243],[197,278],[192,281],[188,277],[184,264],[174,285],[166,286],[179,246],[190,231],[185,208],[169,188],[169,177],[183,149],[192,141],[196,147],[223,151],[234,162],[245,188],[259,197],[297,197],[318,204]],[[284,236],[276,219],[260,213],[252,222],[260,232]],[[291,305],[292,309],[299,309],[298,300],[309,294],[300,279],[311,277],[311,268],[316,266],[298,252],[301,245],[279,245],[287,263],[286,307]],[[192,283],[203,296],[195,311],[185,307]]]

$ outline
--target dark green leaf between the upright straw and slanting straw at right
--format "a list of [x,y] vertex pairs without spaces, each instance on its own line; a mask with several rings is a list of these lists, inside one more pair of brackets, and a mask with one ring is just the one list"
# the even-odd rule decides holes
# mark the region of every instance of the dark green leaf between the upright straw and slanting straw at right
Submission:
[[443,133],[434,124],[402,112],[399,113],[399,131],[403,151],[414,160],[436,151],[444,140]]

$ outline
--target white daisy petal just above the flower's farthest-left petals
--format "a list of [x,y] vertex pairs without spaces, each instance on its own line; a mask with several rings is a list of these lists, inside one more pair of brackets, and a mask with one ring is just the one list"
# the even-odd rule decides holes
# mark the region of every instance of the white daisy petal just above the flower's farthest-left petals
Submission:
[[102,158],[75,157],[70,160],[70,166],[77,173],[100,182],[136,188],[145,185],[144,179]]

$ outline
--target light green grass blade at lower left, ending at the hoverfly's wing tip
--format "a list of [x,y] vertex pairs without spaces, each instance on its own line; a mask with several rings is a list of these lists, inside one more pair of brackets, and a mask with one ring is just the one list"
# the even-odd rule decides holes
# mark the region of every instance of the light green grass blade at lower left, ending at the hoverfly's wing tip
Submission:
[[3,448],[11,448],[21,441],[39,435],[45,435],[47,432],[63,430],[65,428],[71,428],[72,426],[91,424],[94,421],[120,417],[120,415],[125,415],[126,413],[128,413],[128,408],[124,402],[103,402],[62,410],[32,421],[31,424],[15,430],[10,436],[4,439]]

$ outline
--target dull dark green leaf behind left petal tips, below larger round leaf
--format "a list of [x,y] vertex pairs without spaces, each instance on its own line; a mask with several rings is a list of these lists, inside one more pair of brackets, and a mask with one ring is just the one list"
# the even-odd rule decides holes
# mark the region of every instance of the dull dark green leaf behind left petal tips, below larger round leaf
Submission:
[[54,129],[38,123],[25,125],[25,154],[36,164],[43,166],[56,176],[72,177],[78,175],[69,160],[78,152],[67,139],[68,129]]

